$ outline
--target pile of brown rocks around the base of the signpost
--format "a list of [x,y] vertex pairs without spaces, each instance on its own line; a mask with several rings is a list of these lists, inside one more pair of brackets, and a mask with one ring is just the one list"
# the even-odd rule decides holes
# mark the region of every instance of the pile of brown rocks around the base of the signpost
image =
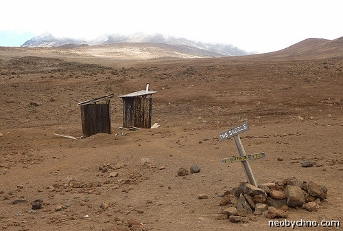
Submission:
[[242,182],[237,188],[224,192],[220,206],[224,219],[244,222],[248,214],[264,215],[269,219],[287,218],[289,207],[314,212],[327,197],[327,188],[313,181],[284,179],[270,181],[258,187]]

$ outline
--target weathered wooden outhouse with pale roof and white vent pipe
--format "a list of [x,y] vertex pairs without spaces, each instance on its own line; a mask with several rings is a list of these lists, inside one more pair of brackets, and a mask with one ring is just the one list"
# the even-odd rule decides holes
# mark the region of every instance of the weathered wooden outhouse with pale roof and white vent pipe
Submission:
[[152,117],[152,94],[149,84],[145,90],[135,91],[130,94],[119,96],[123,99],[123,127],[131,126],[150,129]]

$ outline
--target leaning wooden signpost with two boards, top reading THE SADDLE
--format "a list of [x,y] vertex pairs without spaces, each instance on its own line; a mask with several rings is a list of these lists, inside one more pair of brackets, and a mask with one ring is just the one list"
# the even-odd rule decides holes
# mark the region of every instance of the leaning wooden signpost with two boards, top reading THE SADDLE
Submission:
[[250,164],[247,162],[247,160],[250,159],[259,159],[265,157],[264,153],[255,153],[251,155],[246,155],[246,151],[244,151],[244,147],[241,144],[241,139],[239,138],[239,134],[243,133],[244,131],[248,131],[249,126],[248,122],[244,122],[243,124],[239,124],[237,126],[234,126],[231,129],[228,129],[227,131],[224,131],[218,135],[218,139],[220,141],[227,140],[230,137],[233,137],[233,142],[235,143],[237,153],[239,157],[232,157],[232,158],[225,158],[222,159],[222,163],[228,163],[228,162],[241,162],[241,165],[243,166],[244,173],[246,174],[246,179],[248,179],[248,183],[257,186],[257,182],[255,180],[254,175],[252,174],[252,170],[250,168]]

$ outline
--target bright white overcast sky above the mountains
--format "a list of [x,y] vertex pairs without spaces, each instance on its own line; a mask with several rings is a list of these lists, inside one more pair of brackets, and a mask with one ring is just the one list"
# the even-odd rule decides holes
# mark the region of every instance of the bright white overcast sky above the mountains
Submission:
[[11,0],[0,3],[0,46],[32,36],[95,39],[105,33],[169,34],[272,52],[308,38],[343,36],[340,0]]

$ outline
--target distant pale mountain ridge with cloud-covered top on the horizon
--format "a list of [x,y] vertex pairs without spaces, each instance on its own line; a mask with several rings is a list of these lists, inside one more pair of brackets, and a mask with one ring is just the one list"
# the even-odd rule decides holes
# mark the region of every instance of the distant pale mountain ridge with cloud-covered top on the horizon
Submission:
[[244,56],[251,53],[230,44],[202,43],[185,38],[175,38],[164,34],[108,34],[91,40],[58,38],[49,32],[26,41],[21,47],[61,47],[72,49],[80,45],[104,45],[117,43],[163,43],[174,47],[178,52],[186,52],[195,56],[226,57]]

